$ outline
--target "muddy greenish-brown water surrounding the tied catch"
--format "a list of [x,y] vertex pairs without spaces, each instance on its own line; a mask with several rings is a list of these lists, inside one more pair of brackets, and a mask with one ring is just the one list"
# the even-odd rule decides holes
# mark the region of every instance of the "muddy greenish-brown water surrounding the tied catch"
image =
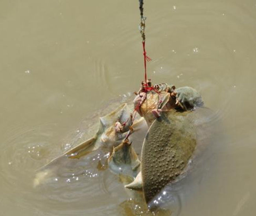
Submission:
[[[199,166],[167,188],[165,208],[255,215],[256,2],[145,1],[145,15],[148,77],[196,88],[221,124]],[[143,79],[138,23],[136,0],[0,2],[0,215],[151,215],[96,169],[102,152],[33,187],[38,168],[133,97]]]

